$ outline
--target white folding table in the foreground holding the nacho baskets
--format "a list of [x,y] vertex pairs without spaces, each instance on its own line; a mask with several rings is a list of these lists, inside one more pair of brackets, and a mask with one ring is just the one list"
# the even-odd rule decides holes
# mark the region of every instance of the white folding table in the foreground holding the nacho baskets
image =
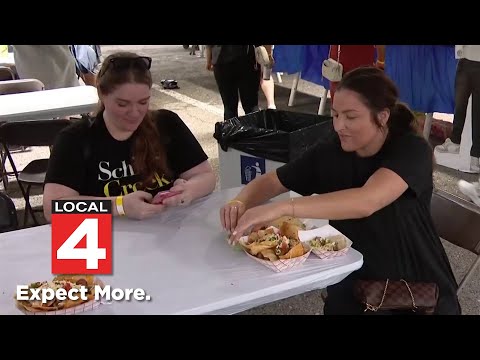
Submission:
[[[331,260],[310,254],[300,267],[275,273],[231,248],[219,209],[239,190],[149,220],[115,218],[113,275],[100,279],[112,288],[142,288],[151,300],[113,301],[84,314],[234,314],[325,288],[362,266],[351,248]],[[0,234],[0,314],[22,314],[13,298],[17,285],[52,277],[50,225]]]

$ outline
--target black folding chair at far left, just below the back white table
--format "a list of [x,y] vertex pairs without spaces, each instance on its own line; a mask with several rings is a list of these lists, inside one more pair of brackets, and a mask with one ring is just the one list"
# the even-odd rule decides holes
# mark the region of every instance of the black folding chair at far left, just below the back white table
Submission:
[[[30,205],[30,189],[34,185],[43,186],[48,168],[48,159],[35,159],[21,171],[17,170],[9,151],[10,145],[18,146],[52,146],[57,134],[72,122],[66,119],[15,121],[0,125],[0,143],[6,157],[12,165],[20,191],[25,199],[24,226],[28,214],[33,218],[35,225],[38,221]],[[26,185],[26,189],[24,188]]]

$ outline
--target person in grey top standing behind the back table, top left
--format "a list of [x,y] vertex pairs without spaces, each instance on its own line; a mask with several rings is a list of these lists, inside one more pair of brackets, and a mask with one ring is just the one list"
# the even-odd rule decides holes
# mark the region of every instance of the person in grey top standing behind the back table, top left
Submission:
[[45,90],[79,86],[68,45],[12,45],[20,79],[37,79]]

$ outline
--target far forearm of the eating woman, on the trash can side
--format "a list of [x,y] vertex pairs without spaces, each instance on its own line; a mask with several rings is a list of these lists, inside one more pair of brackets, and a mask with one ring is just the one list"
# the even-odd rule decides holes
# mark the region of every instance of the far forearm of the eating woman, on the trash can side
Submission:
[[271,198],[287,192],[275,171],[262,175],[246,185],[235,199],[243,202],[247,208],[263,204]]

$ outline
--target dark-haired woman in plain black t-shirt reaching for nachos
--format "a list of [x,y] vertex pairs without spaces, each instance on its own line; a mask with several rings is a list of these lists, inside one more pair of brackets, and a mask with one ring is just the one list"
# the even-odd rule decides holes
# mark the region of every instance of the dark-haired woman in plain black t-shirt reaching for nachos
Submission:
[[[437,314],[459,314],[457,284],[430,216],[433,154],[394,83],[374,67],[345,74],[332,106],[338,138],[255,178],[220,211],[237,241],[283,215],[328,219],[364,264],[328,287],[325,314],[363,314],[354,282],[435,282]],[[288,190],[304,195],[264,204]]]

